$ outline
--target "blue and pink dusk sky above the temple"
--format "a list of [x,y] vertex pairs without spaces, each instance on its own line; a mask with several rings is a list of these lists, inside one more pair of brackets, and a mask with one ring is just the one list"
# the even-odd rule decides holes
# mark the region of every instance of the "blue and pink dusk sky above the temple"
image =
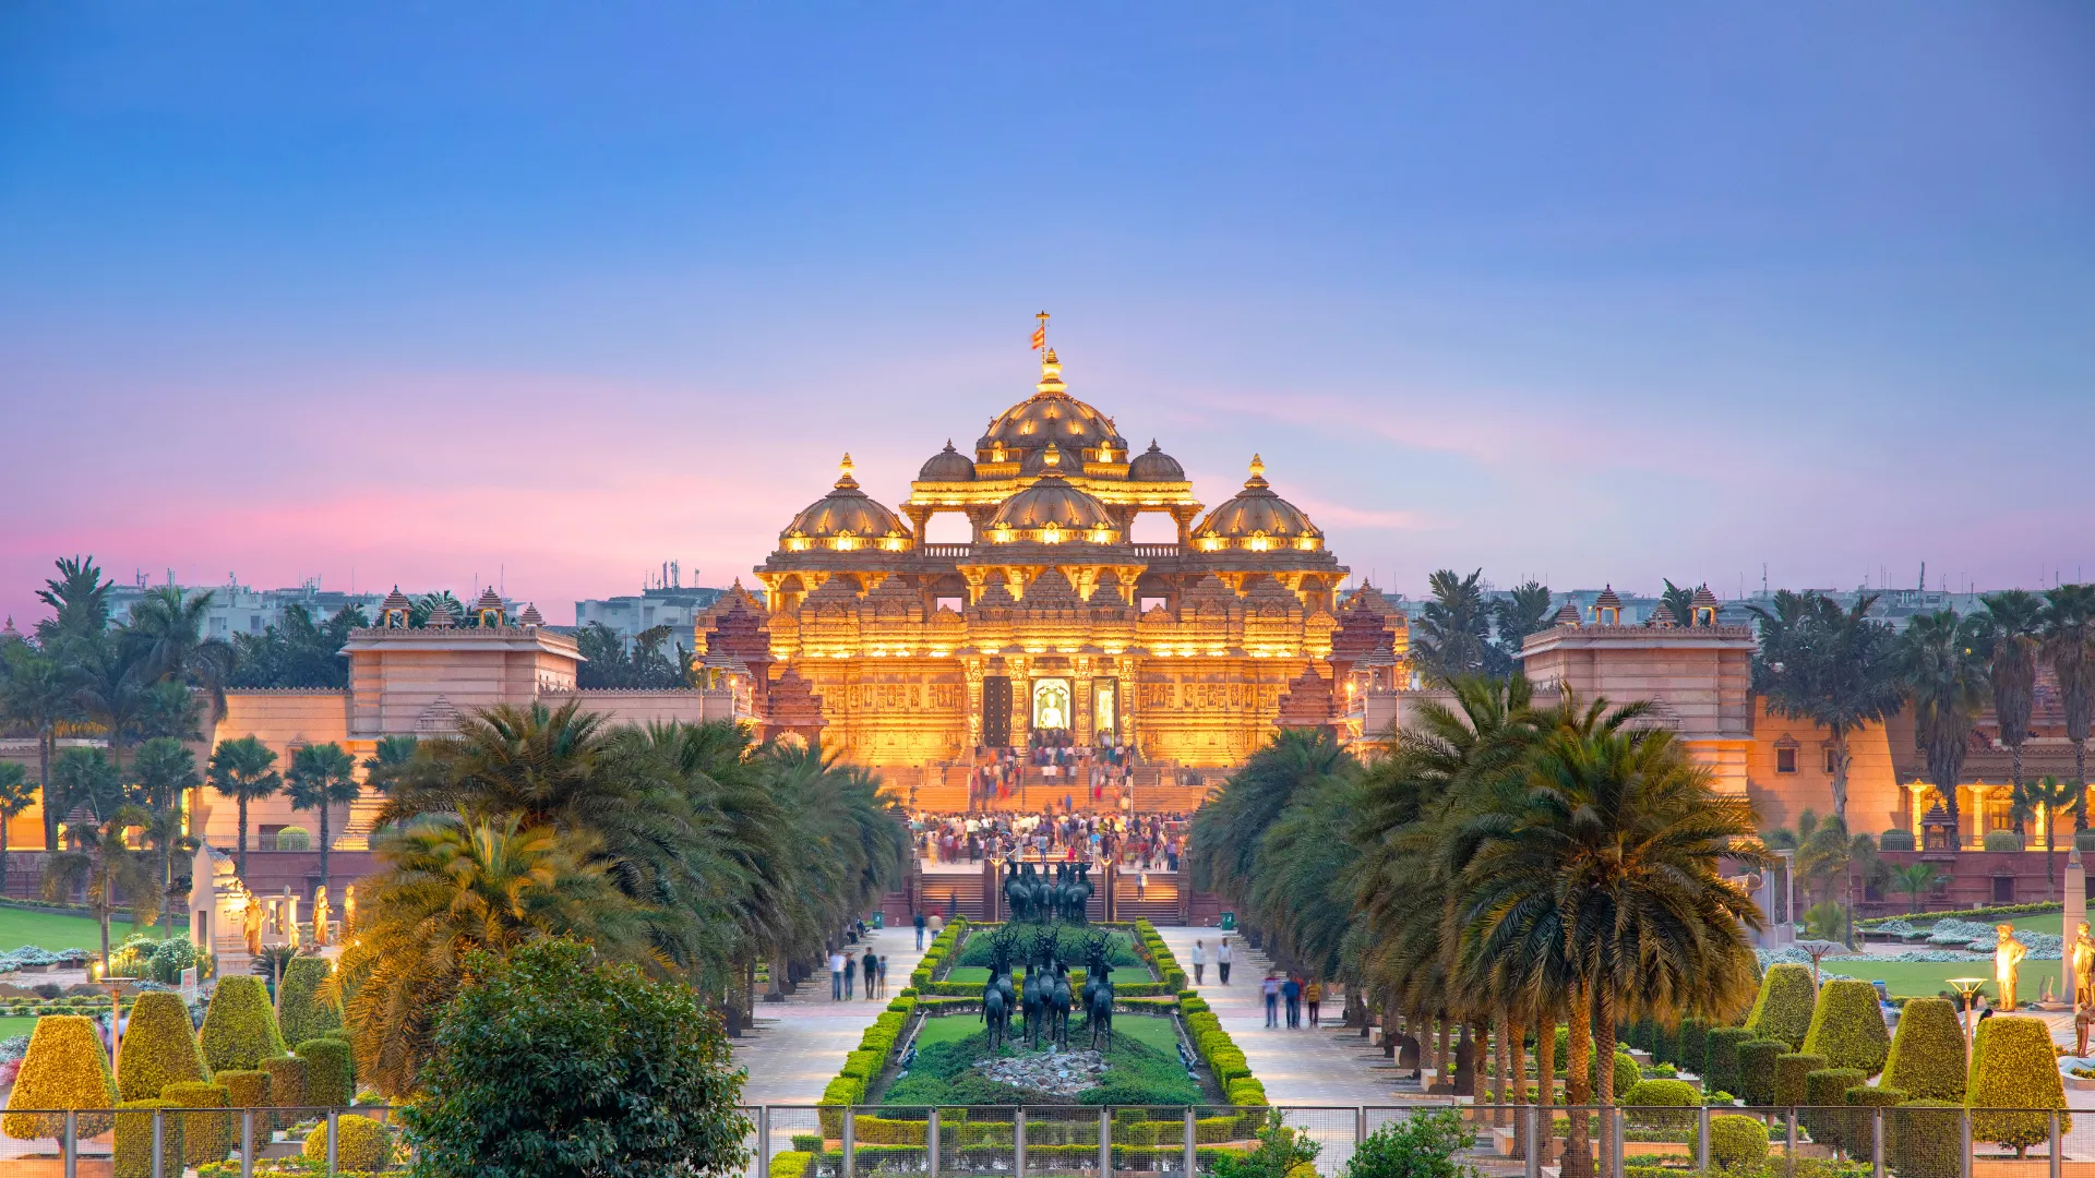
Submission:
[[1355,583],[2095,576],[2095,6],[0,6],[19,618],[748,581],[1037,310]]

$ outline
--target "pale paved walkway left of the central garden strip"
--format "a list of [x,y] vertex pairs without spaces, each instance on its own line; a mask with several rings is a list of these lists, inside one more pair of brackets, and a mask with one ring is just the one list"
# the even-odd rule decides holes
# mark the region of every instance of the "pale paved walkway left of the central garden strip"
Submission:
[[[930,939],[930,933],[924,935]],[[924,954],[916,947],[916,929],[880,929],[872,933],[874,952],[888,958],[888,996],[909,985],[909,973]],[[853,945],[865,954],[865,945]],[[844,1067],[844,1052],[859,1046],[859,1035],[888,1008],[886,1000],[830,1000],[830,979],[813,977],[786,1002],[758,1002],[756,1027],[735,1044],[735,1063],[750,1077],[742,1086],[744,1105],[813,1105],[821,1090]]]

